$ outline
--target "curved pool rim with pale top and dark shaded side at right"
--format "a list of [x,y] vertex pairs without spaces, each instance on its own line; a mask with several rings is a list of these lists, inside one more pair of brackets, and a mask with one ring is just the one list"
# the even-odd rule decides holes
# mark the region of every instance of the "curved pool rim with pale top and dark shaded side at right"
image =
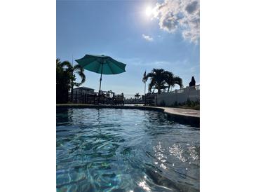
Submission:
[[173,121],[187,123],[200,127],[200,111],[194,109],[183,109],[174,107],[154,107],[154,106],[126,106],[126,105],[104,105],[104,104],[56,104],[56,107],[75,107],[75,108],[112,108],[112,109],[142,109],[161,111],[168,115]]

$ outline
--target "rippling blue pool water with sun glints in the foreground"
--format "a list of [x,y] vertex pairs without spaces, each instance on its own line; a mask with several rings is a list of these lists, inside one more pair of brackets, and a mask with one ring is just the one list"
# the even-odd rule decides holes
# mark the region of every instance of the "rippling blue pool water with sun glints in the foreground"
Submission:
[[138,109],[58,109],[57,191],[199,191],[199,130]]

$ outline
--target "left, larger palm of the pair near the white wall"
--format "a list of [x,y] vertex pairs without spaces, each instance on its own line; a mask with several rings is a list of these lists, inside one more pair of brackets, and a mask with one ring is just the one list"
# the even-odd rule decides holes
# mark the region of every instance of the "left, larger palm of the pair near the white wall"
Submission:
[[165,70],[153,69],[150,73],[144,76],[143,81],[147,81],[148,78],[151,78],[151,81],[149,82],[150,92],[151,92],[151,89],[154,88],[154,89],[157,89],[158,93],[160,94],[161,90],[166,88],[166,86],[164,85],[166,83]]

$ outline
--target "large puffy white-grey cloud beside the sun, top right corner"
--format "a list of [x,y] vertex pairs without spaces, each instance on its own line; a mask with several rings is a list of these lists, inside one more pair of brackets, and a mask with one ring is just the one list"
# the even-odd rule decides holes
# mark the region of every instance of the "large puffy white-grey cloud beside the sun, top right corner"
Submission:
[[165,0],[153,8],[161,29],[174,33],[181,29],[184,39],[198,43],[200,34],[199,0]]

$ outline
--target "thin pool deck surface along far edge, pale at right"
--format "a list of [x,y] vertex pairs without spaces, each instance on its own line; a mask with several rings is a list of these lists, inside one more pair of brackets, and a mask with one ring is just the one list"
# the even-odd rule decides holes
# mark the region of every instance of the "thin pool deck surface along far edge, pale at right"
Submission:
[[183,109],[174,107],[153,107],[153,106],[122,106],[122,105],[95,105],[95,104],[56,104],[57,107],[79,107],[79,108],[114,108],[114,109],[149,109],[163,111],[168,115],[184,116],[187,118],[200,118],[200,111],[194,109]]

